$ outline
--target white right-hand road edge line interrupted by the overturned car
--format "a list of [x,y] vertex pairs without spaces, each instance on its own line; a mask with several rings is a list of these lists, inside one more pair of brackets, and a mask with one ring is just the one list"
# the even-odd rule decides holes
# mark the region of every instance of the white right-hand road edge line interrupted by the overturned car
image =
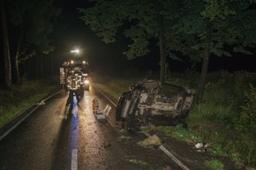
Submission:
[[[95,87],[95,86],[94,86]],[[110,103],[113,104],[114,107],[117,107],[117,105],[114,103],[114,101],[110,100],[102,91],[100,91],[98,88],[95,87],[95,89],[97,89],[99,92],[102,93],[102,95],[110,101]],[[147,137],[151,137],[149,134],[144,133]],[[187,166],[184,166],[184,164],[177,159],[171,152],[169,152],[162,144],[159,147],[162,152],[164,152],[167,156],[169,156],[170,159],[172,159],[178,166],[180,166],[182,169],[184,170],[190,170]]]

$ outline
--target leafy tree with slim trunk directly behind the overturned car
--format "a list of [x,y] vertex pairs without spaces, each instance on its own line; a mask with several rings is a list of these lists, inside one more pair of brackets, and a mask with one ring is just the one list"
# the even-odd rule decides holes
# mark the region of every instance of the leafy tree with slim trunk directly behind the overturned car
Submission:
[[[161,56],[161,82],[165,81],[166,56],[169,55],[167,41],[172,19],[166,14],[177,9],[179,1],[162,0],[115,0],[96,1],[94,7],[82,9],[81,19],[106,43],[116,41],[118,29],[124,29],[124,36],[132,40],[129,50],[124,52],[132,60],[147,55],[148,42],[158,40]],[[169,8],[171,6],[171,8]]]

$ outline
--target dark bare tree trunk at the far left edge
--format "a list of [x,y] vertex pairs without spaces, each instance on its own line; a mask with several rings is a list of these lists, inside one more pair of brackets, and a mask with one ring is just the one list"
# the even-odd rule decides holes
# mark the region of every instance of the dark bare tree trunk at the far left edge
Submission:
[[1,18],[2,18],[2,30],[3,30],[3,42],[4,42],[4,74],[5,85],[7,88],[11,88],[11,57],[9,51],[9,39],[8,28],[5,11],[5,1],[1,0]]

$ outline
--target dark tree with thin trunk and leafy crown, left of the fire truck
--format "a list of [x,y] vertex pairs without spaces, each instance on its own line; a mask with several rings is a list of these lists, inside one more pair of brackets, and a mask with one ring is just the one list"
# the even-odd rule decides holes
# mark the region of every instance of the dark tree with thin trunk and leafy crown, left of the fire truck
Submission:
[[[40,2],[32,0],[13,0],[9,3],[12,33],[12,48],[17,82],[20,82],[19,63],[35,55],[35,51],[48,54],[53,50],[50,46],[49,33],[53,30],[52,18],[59,14],[59,9],[51,0]],[[17,30],[17,31],[16,31]],[[30,49],[34,48],[34,49]]]

